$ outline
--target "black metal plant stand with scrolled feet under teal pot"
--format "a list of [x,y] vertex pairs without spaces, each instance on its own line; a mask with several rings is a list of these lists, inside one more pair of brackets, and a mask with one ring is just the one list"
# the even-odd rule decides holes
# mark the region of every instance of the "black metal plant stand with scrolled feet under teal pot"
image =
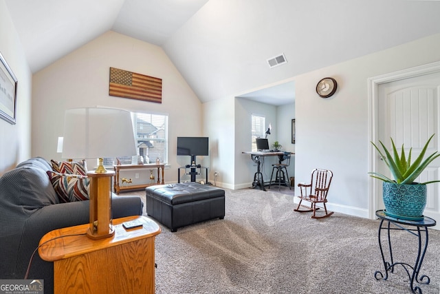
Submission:
[[[374,277],[376,278],[376,280],[387,280],[388,271],[390,273],[393,273],[394,267],[400,264],[401,266],[403,266],[406,273],[408,274],[412,293],[421,294],[422,293],[421,288],[419,286],[415,286],[415,282],[418,284],[425,284],[425,285],[430,283],[430,278],[427,275],[419,275],[419,273],[421,269],[421,264],[423,262],[423,258],[425,258],[426,248],[428,248],[428,227],[435,226],[436,224],[435,220],[433,220],[432,218],[428,218],[427,216],[425,216],[423,220],[420,221],[402,220],[400,218],[393,218],[391,216],[386,216],[383,210],[376,211],[376,216],[381,219],[379,225],[378,240],[379,240],[380,254],[382,255],[382,261],[384,262],[385,276],[382,273],[382,271],[375,271]],[[387,221],[388,225],[383,226],[384,221]],[[395,227],[397,228],[391,227],[391,224],[394,224]],[[401,224],[405,225],[406,227],[402,226]],[[390,254],[389,257],[391,260],[390,262],[385,260],[384,251],[382,250],[382,241],[381,241],[382,230],[386,230],[388,235],[388,248]],[[391,233],[390,233],[392,230],[400,230],[400,231],[403,230],[403,231],[407,231],[408,233],[411,233],[412,235],[417,236],[419,241],[419,249],[417,251],[417,258],[414,266],[411,266],[410,264],[404,262],[394,262],[393,249],[391,248]],[[423,232],[425,235],[424,244],[422,244]]]

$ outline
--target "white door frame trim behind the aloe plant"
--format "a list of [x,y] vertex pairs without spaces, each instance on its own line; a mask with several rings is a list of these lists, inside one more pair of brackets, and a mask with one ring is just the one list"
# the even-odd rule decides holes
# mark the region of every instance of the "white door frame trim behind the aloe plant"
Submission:
[[[425,74],[434,74],[440,72],[440,61],[411,67],[397,72],[390,72],[380,76],[373,76],[368,78],[368,95],[369,95],[369,171],[377,171],[379,165],[379,156],[376,155],[376,150],[370,142],[377,142],[379,140],[379,85],[384,83],[391,83],[395,81],[404,80],[406,78],[414,78],[416,76],[423,76]],[[369,176],[369,218],[375,219],[375,211],[378,207],[377,191],[380,191],[381,185],[379,180]]]

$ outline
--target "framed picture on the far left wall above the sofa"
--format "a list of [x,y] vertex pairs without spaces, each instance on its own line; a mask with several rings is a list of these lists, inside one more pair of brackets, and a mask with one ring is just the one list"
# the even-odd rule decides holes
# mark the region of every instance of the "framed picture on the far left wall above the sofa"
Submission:
[[14,125],[17,107],[17,78],[0,53],[0,118]]

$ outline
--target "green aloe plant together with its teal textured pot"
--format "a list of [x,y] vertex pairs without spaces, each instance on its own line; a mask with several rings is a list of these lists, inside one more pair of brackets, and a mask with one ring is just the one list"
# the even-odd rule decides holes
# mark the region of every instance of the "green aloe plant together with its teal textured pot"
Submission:
[[429,182],[414,182],[415,179],[421,174],[421,172],[428,167],[430,162],[439,157],[437,151],[423,160],[426,149],[432,139],[430,136],[428,142],[421,150],[421,153],[414,162],[411,162],[411,151],[408,152],[408,156],[405,154],[404,145],[401,146],[401,154],[395,147],[393,138],[391,138],[391,144],[393,150],[388,151],[385,145],[379,141],[383,151],[375,143],[371,142],[375,149],[382,156],[388,169],[391,171],[391,175],[394,180],[378,174],[370,172],[370,176],[382,180],[383,183],[383,198],[385,204],[385,214],[396,218],[406,220],[423,220],[423,210],[426,207],[426,185],[432,182],[440,182],[440,180],[432,180]]

